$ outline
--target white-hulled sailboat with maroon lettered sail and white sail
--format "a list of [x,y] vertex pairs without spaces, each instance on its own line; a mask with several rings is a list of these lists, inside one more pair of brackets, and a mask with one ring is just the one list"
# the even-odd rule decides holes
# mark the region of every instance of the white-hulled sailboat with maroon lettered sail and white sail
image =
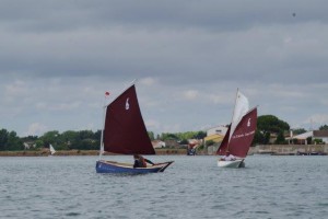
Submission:
[[[254,139],[257,125],[257,107],[249,111],[247,97],[237,91],[232,123],[216,151],[225,155],[218,160],[221,168],[245,168],[245,158]],[[227,157],[227,153],[231,155]]]

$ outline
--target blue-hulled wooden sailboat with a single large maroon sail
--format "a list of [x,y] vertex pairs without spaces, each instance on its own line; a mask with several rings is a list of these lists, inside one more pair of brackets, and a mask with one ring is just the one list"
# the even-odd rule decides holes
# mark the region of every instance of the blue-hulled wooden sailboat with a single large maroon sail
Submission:
[[116,154],[155,154],[147,132],[138,103],[136,85],[132,83],[110,104],[104,107],[104,129],[102,131],[97,173],[157,173],[173,161],[155,163],[147,168],[102,159],[104,151]]

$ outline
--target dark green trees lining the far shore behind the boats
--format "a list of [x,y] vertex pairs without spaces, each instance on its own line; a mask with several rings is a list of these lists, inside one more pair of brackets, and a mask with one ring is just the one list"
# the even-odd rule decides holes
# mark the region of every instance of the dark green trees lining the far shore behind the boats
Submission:
[[[328,125],[323,125],[319,130],[328,130]],[[273,115],[262,115],[257,119],[257,130],[253,140],[253,145],[268,145],[270,143],[271,135],[277,135],[273,143],[283,145],[286,143],[284,138],[285,132],[290,131],[290,125],[279,119]],[[304,128],[293,130],[294,135],[306,132]],[[186,131],[186,132],[163,132],[161,135],[154,135],[153,131],[149,131],[151,140],[175,140],[180,145],[187,145],[188,139],[203,139],[207,132],[200,131]],[[43,136],[27,136],[19,137],[15,131],[8,131],[7,129],[0,129],[0,151],[5,150],[38,150],[40,148],[48,148],[49,145],[56,148],[56,150],[98,150],[101,145],[102,131],[96,130],[68,130],[59,132],[58,130],[51,130],[45,132]]]

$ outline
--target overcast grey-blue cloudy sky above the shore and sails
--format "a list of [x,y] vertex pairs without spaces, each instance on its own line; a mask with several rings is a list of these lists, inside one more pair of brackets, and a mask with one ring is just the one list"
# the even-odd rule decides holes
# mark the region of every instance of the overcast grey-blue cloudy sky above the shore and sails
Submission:
[[236,90],[292,128],[328,124],[326,0],[1,0],[0,129],[102,128],[138,79],[148,130],[206,130]]

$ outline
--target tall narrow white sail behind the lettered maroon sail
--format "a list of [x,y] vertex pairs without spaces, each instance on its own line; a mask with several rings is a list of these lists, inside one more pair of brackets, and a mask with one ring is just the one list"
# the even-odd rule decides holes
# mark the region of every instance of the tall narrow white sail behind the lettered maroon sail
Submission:
[[243,93],[241,93],[239,90],[237,90],[236,103],[235,103],[234,114],[231,123],[229,140],[234,134],[241,119],[248,111],[249,111],[248,99]]

